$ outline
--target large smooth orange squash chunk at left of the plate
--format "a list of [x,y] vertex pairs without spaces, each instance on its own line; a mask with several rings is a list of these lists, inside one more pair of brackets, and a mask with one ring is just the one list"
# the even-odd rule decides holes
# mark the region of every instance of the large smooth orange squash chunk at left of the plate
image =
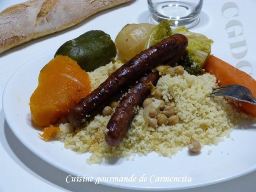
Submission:
[[33,122],[38,126],[50,126],[90,91],[87,72],[70,57],[56,56],[40,71],[38,87],[30,97]]

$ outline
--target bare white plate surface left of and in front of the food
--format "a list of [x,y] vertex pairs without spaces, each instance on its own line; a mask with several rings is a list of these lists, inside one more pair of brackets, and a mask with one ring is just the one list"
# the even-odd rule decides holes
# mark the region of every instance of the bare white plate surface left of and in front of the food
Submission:
[[[134,161],[116,159],[110,164],[88,165],[85,160],[89,153],[78,155],[64,148],[58,141],[45,142],[39,138],[40,129],[32,126],[29,99],[37,87],[41,68],[53,58],[54,52],[35,57],[23,65],[9,79],[3,95],[3,109],[6,121],[19,140],[33,153],[73,175],[93,177],[137,177],[132,182],[105,182],[121,188],[133,189],[177,189],[208,185],[231,179],[256,170],[256,129],[247,123],[246,130],[234,130],[218,146],[205,146],[200,155],[189,155],[187,149],[172,159],[159,157],[155,153],[147,157],[135,157]],[[208,155],[208,150],[212,153]],[[147,181],[141,181],[145,174]],[[151,177],[151,180],[150,180]],[[153,182],[156,177],[182,177],[191,182]],[[155,180],[154,180],[155,181]]]

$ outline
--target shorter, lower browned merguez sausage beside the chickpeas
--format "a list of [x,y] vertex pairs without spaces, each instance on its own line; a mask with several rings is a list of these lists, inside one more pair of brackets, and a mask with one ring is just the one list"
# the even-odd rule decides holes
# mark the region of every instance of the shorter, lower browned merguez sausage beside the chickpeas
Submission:
[[124,138],[132,119],[137,113],[137,107],[141,106],[152,88],[151,83],[156,86],[160,75],[158,72],[150,72],[129,89],[112,114],[107,128],[108,133],[105,134],[106,142],[111,146],[117,146]]

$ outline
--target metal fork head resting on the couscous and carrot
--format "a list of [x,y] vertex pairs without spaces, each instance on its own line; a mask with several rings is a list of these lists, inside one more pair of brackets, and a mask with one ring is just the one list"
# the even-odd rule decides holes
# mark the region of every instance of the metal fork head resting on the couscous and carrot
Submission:
[[242,85],[227,85],[217,87],[213,89],[210,96],[226,96],[235,100],[248,102],[256,105],[256,98],[252,95],[252,92],[247,87],[244,87]]

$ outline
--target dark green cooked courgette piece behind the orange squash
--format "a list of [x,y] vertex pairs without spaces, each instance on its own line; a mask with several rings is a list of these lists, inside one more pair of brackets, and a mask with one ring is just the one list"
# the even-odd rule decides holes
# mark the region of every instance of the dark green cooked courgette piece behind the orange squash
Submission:
[[104,31],[91,30],[65,42],[56,55],[66,55],[74,59],[87,72],[104,66],[117,54],[115,43]]

